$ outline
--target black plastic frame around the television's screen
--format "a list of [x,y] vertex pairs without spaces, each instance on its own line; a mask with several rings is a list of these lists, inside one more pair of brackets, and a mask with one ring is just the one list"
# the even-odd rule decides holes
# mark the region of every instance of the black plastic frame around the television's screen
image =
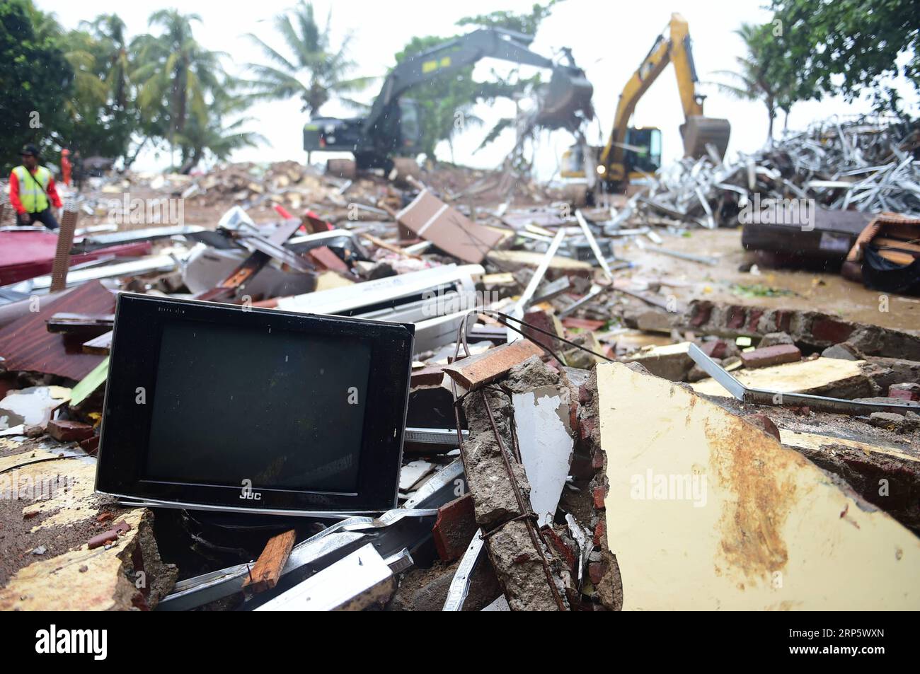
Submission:
[[[295,491],[252,485],[251,492],[244,492],[241,485],[145,479],[160,342],[163,327],[176,320],[366,341],[371,348],[371,365],[355,491]],[[395,508],[414,332],[411,324],[120,293],[109,355],[96,491],[173,508],[261,514],[352,514]],[[139,387],[144,387],[144,405],[137,403]],[[249,497],[244,497],[247,493]]]

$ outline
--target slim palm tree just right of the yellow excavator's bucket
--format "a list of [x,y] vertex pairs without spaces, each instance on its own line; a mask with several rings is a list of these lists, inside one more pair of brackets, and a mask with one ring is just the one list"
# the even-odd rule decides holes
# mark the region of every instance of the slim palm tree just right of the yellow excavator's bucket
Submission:
[[716,82],[716,86],[726,94],[742,100],[762,100],[766,107],[769,125],[767,127],[767,141],[773,141],[773,122],[776,120],[776,109],[786,112],[792,107],[793,83],[789,80],[792,73],[790,69],[780,67],[776,42],[773,40],[770,25],[754,26],[742,23],[741,28],[735,33],[739,35],[747,46],[747,55],[735,59],[738,63],[738,72],[718,70],[715,74],[728,77],[730,83]]

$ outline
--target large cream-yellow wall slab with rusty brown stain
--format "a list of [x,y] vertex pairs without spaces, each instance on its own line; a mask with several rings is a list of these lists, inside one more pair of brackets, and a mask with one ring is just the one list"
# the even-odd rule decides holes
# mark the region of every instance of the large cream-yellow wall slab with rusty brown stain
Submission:
[[597,380],[624,609],[920,609],[920,539],[886,513],[679,385]]

